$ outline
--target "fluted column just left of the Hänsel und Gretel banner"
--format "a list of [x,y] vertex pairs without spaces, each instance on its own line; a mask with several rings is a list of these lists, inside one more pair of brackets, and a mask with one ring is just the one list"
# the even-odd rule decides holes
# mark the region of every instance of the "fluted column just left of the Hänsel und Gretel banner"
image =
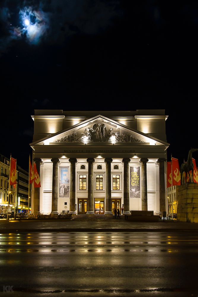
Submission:
[[124,163],[124,190],[123,190],[123,198],[124,198],[124,211],[123,214],[130,215],[129,210],[129,162],[131,159],[123,158],[122,162]]

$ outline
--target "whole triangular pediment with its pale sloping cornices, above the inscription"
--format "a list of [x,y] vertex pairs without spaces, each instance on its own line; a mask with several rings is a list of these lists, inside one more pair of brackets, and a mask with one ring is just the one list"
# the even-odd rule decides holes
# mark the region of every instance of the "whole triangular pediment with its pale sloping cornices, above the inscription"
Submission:
[[59,131],[30,145],[50,145],[50,143],[54,145],[64,143],[89,143],[90,145],[92,143],[145,143],[145,145],[169,146],[166,142],[101,115],[76,124],[72,128]]

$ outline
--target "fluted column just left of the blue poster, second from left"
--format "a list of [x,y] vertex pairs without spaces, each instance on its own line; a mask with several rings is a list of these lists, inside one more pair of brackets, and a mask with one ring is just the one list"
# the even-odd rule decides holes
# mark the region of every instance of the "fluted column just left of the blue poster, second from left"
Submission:
[[59,159],[51,159],[53,162],[53,171],[52,171],[52,213],[58,213],[58,163]]

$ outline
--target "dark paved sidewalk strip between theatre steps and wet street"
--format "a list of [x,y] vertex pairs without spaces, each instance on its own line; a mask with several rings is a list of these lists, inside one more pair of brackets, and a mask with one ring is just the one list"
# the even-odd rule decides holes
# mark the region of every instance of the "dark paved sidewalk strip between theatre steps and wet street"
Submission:
[[177,221],[130,222],[125,220],[0,220],[0,233],[15,232],[198,232],[198,223]]

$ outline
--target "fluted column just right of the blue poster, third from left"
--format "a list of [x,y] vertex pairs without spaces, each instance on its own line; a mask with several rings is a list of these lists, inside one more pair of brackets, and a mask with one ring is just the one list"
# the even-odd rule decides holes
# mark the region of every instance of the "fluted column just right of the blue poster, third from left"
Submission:
[[71,158],[70,162],[70,189],[69,189],[69,214],[76,214],[76,164],[77,159]]

